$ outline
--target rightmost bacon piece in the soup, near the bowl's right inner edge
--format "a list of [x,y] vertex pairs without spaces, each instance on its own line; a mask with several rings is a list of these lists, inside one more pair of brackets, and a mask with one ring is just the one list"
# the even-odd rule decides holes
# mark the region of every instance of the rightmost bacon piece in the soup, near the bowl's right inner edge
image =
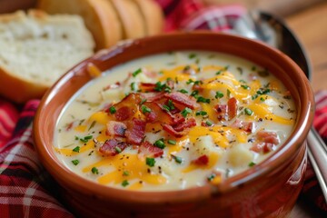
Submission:
[[253,144],[251,150],[256,153],[267,154],[276,148],[279,144],[278,135],[274,132],[259,131],[257,133],[257,142]]

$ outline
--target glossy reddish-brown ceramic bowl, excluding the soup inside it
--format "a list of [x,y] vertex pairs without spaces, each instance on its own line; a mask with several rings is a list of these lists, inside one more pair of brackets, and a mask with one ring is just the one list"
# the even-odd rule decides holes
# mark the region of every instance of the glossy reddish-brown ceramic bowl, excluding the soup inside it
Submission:
[[[86,64],[101,70],[144,55],[172,50],[208,50],[233,54],[267,67],[291,91],[298,109],[291,137],[263,163],[213,186],[139,192],[114,189],[72,173],[54,152],[54,127],[64,104],[91,80]],[[284,217],[302,188],[305,138],[312,124],[313,95],[302,70],[281,52],[233,35],[188,33],[160,35],[117,45],[74,66],[49,90],[35,117],[35,148],[60,184],[64,203],[83,217]]]

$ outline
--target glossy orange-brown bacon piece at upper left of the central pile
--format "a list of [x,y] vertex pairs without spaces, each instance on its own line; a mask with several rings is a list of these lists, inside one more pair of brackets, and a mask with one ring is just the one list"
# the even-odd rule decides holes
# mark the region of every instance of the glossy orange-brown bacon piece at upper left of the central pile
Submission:
[[117,121],[131,119],[137,112],[140,102],[140,94],[128,94],[121,102],[114,104],[114,108],[116,109],[114,117]]

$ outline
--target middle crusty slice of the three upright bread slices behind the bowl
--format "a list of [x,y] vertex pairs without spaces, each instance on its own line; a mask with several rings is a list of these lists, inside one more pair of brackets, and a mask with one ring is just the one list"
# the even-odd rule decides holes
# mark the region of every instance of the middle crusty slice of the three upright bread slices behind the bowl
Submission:
[[123,38],[140,38],[146,35],[144,18],[134,0],[107,0],[114,5],[123,25]]

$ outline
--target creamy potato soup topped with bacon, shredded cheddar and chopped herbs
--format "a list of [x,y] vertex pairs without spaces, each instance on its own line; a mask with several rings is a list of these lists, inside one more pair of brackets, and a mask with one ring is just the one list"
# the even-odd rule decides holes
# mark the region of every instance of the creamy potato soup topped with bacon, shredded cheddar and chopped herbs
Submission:
[[180,190],[255,167],[285,142],[295,118],[289,91],[264,67],[203,51],[155,54],[75,94],[54,147],[71,171],[95,183]]

